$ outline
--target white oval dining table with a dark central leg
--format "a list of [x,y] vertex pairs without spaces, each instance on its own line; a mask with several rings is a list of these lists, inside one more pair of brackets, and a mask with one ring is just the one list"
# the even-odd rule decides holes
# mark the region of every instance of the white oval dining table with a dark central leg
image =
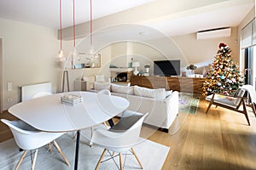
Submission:
[[[82,102],[76,105],[61,103],[61,97],[68,94],[81,96]],[[79,130],[106,122],[129,105],[129,101],[121,97],[81,91],[27,100],[11,106],[9,113],[41,131],[78,131],[74,162],[74,169],[78,169]]]

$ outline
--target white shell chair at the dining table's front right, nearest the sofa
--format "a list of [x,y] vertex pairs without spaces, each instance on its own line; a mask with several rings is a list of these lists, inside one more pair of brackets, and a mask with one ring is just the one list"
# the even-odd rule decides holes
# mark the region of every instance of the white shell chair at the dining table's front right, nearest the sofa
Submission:
[[[127,152],[128,150],[136,157],[137,162],[140,167],[143,168],[141,161],[139,161],[135,150],[132,148],[135,144],[139,142],[139,134],[143,125],[144,117],[147,114],[138,113],[136,111],[124,111],[119,122],[111,127],[106,128],[96,128],[92,138],[91,144],[96,144],[105,148],[102,152],[96,169],[102,163],[102,158],[104,157],[106,151],[113,151],[113,153],[119,153],[119,168],[123,169],[123,162],[121,154]],[[113,158],[114,156],[112,156]]]

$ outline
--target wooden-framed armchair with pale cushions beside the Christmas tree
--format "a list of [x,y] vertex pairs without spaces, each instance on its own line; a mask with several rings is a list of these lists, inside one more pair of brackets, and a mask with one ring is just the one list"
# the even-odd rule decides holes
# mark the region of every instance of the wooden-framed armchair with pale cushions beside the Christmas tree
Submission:
[[[216,105],[216,107],[224,107],[225,109],[229,109],[231,111],[237,111],[246,116],[248,125],[250,126],[249,117],[247,115],[247,107],[245,103],[245,94],[246,89],[243,88],[239,88],[234,96],[225,96],[224,94],[212,94],[207,97],[207,100],[210,101],[207,107],[207,112],[210,110],[212,105]],[[240,110],[241,105],[242,110]]]

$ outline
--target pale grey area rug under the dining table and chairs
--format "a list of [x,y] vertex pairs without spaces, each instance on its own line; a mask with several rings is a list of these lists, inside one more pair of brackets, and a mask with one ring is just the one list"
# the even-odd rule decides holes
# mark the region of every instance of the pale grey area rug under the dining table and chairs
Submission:
[[[87,137],[89,130],[83,130],[81,132],[81,142],[79,150],[79,169],[95,169],[96,163],[102,155],[103,148],[93,145],[88,146]],[[38,158],[36,162],[36,170],[65,170],[73,169],[74,160],[74,150],[75,150],[75,139],[73,139],[73,133],[67,133],[61,136],[61,138],[56,140],[61,146],[64,154],[67,156],[71,167],[62,161],[61,155],[55,150],[50,153],[48,146],[44,146],[38,150]],[[143,167],[146,170],[158,170],[163,166],[166,156],[169,152],[169,147],[162,144],[154,143],[148,139],[142,139],[142,141],[134,146],[134,150],[137,152],[137,156],[143,163]],[[14,139],[9,139],[3,143],[0,143],[0,169],[1,170],[13,170],[17,162],[20,159],[22,152],[15,144]],[[108,153],[104,156],[104,159],[108,159]],[[117,164],[119,165],[118,157],[115,158]],[[125,161],[125,169],[140,169],[139,164],[132,155],[127,155],[126,158],[123,156],[123,161]],[[31,167],[31,157],[29,154],[25,157],[20,165],[20,170],[30,169]],[[114,164],[113,160],[108,160],[102,162],[99,169],[118,169]]]

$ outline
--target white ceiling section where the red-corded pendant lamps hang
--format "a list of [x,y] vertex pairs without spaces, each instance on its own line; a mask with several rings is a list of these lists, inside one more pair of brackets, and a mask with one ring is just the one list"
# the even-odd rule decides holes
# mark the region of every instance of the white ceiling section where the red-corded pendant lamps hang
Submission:
[[[154,0],[93,0],[93,19]],[[73,25],[73,0],[62,2],[62,27]],[[75,0],[76,24],[90,20],[90,0]],[[60,0],[1,0],[0,18],[59,28]]]

